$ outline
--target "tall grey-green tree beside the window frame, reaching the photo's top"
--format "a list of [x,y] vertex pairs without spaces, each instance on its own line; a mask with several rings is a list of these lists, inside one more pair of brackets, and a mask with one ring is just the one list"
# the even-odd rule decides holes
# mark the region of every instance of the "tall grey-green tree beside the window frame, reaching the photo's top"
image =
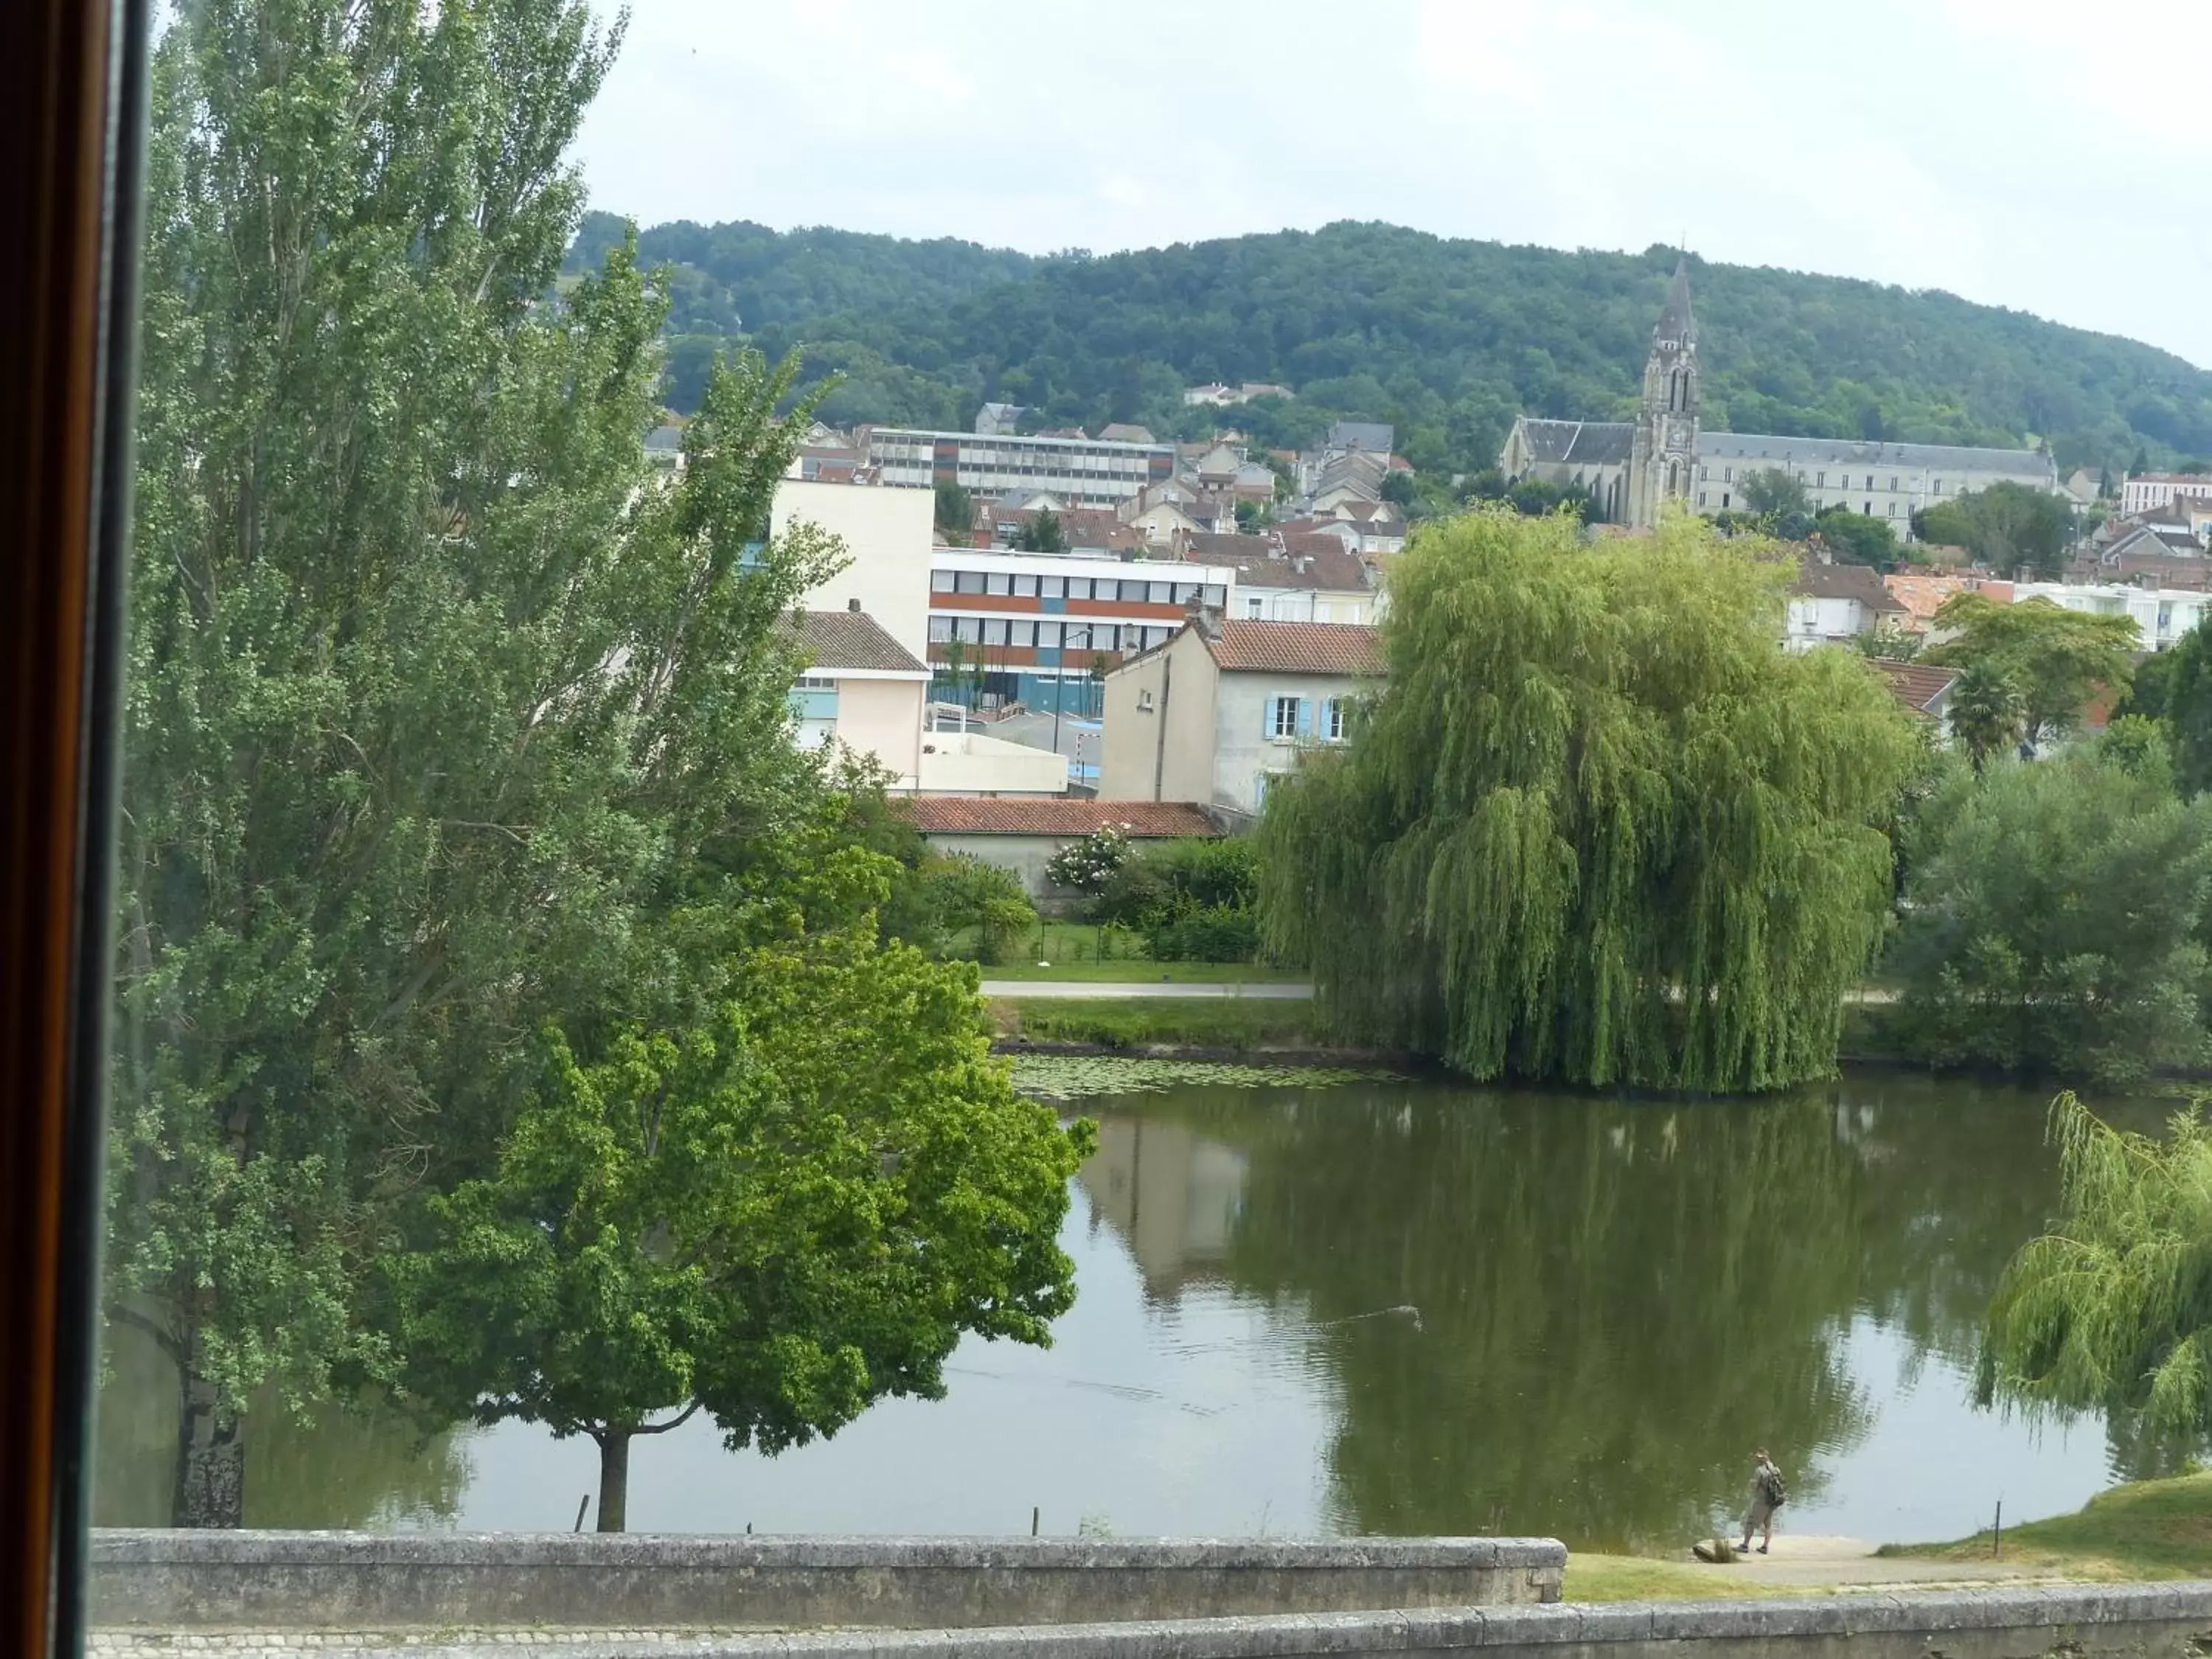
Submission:
[[688,1018],[830,916],[759,544],[805,425],[719,365],[655,476],[664,296],[549,303],[613,42],[577,0],[208,0],[155,49],[108,1314],[177,1371],[170,1520],[237,1526],[254,1400],[389,1380],[414,1197],[538,1029]]

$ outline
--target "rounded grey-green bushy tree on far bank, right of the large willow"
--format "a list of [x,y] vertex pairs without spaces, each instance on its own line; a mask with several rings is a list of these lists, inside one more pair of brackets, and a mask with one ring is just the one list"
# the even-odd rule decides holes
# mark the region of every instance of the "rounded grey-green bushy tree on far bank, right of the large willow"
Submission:
[[2101,1084],[2212,1055],[2212,801],[2174,799],[2163,745],[1955,779],[1913,834],[1887,958],[1913,1053]]

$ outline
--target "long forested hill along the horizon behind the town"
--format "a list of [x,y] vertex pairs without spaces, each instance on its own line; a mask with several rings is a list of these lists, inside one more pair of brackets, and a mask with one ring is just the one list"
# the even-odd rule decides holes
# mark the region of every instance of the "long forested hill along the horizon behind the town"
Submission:
[[[573,265],[622,234],[593,215]],[[1389,420],[1427,473],[1495,460],[1515,411],[1621,418],[1674,257],[1447,241],[1336,223],[1141,252],[1033,259],[964,241],[670,223],[670,398],[690,407],[739,330],[843,374],[825,418],[967,427],[984,398],[1044,425],[1137,420],[1270,445]],[[2033,445],[2062,467],[2212,456],[2212,374],[2108,334],[1840,276],[1692,259],[1705,420],[1736,431]],[[1181,407],[1203,380],[1287,403]]]

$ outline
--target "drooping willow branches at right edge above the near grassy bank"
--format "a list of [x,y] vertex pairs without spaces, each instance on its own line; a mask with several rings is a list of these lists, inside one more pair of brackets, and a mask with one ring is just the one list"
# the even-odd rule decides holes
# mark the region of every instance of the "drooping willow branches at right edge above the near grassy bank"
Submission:
[[2106,1409],[2159,1438],[2212,1433],[2212,1124],[2177,1113],[2163,1141],[2051,1102],[2064,1199],[1997,1281],[1980,1394]]

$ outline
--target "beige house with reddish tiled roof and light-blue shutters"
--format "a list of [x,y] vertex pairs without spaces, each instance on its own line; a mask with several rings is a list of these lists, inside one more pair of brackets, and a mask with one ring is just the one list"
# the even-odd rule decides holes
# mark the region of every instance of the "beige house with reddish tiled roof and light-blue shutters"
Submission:
[[1343,741],[1352,699],[1380,670],[1367,626],[1201,613],[1106,675],[1099,794],[1252,816],[1267,779]]

